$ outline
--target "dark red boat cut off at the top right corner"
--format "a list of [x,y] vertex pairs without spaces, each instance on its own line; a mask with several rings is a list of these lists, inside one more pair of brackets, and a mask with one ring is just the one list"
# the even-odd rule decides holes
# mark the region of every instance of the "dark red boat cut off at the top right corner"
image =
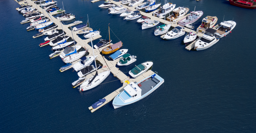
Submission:
[[242,0],[229,0],[229,3],[234,6],[239,6],[243,8],[248,9],[255,9],[256,8],[256,2],[253,1],[242,1]]

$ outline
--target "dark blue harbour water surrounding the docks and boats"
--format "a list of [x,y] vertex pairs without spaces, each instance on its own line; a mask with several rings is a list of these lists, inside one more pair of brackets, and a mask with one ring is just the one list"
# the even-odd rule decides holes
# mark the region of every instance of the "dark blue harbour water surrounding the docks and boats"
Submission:
[[[50,46],[38,46],[44,37],[32,38],[38,31],[20,24],[25,18],[15,10],[18,3],[0,1],[0,132],[256,132],[255,9],[224,0],[172,2],[190,11],[196,6],[204,16],[217,16],[218,23],[225,15],[237,26],[211,48],[188,51],[184,36],[162,40],[154,36],[154,28],[141,30],[136,20],[98,8],[104,1],[63,0],[66,13],[76,20],[85,24],[88,14],[103,39],[110,23],[123,48],[137,56],[121,71],[152,60],[152,71],[165,80],[139,102],[118,109],[110,102],[91,113],[88,107],[122,86],[120,81],[79,93],[71,87],[77,73],[59,72],[62,60],[48,58]],[[119,41],[115,35],[111,33],[112,42]],[[110,74],[104,83],[113,80]]]

